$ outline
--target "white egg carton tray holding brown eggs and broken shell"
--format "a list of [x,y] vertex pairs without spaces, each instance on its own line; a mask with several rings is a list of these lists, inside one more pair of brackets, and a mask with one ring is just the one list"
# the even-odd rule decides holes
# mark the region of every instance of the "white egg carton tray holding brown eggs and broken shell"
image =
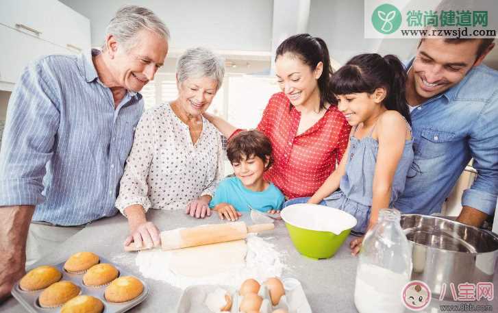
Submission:
[[[260,308],[260,313],[271,313],[277,309],[285,309],[288,313],[311,313],[310,303],[306,299],[306,295],[297,279],[287,278],[282,279],[284,284],[285,295],[280,298],[277,305],[273,306],[268,288],[262,285],[258,295],[263,301]],[[230,313],[240,313],[240,303],[242,296],[238,295],[238,290],[232,286],[218,285],[197,285],[186,288],[177,305],[178,313],[212,313],[206,305],[206,297],[216,288],[223,288],[232,296],[232,309]]]

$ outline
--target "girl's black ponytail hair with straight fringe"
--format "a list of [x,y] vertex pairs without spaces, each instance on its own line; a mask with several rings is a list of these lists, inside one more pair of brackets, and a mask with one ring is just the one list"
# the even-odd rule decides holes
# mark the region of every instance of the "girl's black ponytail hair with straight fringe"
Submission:
[[388,110],[395,110],[412,125],[410,110],[405,97],[406,71],[401,61],[392,54],[382,58],[377,53],[356,55],[332,76],[334,94],[373,93],[376,88],[386,89],[383,103]]

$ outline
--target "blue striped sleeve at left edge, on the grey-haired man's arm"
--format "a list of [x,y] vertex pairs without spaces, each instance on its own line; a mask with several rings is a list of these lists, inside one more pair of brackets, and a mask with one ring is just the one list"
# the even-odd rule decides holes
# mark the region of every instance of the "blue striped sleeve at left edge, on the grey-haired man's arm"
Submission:
[[10,97],[0,153],[0,205],[36,205],[60,121],[46,60],[25,68]]

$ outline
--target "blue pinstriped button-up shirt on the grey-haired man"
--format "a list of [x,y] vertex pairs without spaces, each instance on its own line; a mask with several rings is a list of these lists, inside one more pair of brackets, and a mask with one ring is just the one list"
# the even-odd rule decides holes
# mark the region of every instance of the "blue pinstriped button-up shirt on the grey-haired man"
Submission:
[[116,214],[143,103],[128,91],[114,108],[89,55],[48,55],[29,64],[8,105],[0,205],[36,205],[33,221],[56,225]]

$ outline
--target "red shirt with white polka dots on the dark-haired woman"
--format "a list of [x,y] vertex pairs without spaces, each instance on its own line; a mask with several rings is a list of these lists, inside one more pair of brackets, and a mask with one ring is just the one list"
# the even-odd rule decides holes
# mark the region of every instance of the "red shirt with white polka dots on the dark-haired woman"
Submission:
[[[273,166],[264,178],[289,199],[310,197],[336,168],[347,148],[351,127],[331,105],[325,115],[299,136],[301,113],[278,92],[264,109],[258,129],[271,140]],[[233,136],[233,135],[232,135]]]

